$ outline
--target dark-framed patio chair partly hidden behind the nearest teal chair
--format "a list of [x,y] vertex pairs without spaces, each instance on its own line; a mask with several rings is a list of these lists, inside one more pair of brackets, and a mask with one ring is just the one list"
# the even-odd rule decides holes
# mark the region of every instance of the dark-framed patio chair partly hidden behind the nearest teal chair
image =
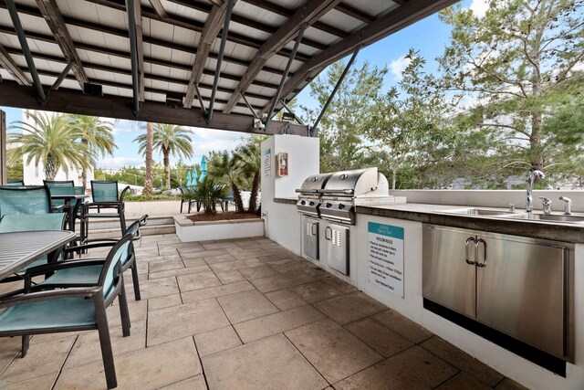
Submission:
[[[141,216],[136,222],[130,225],[128,229],[126,229],[126,233],[124,237],[130,237],[130,243],[128,245],[127,251],[121,254],[120,264],[122,272],[125,272],[127,269],[131,269],[131,279],[132,284],[134,286],[134,298],[136,300],[141,300],[140,295],[140,280],[138,279],[138,265],[136,264],[136,251],[134,250],[133,241],[137,241],[141,238],[140,227],[146,225],[146,221],[148,219],[148,215]],[[73,252],[81,253],[86,249],[90,248],[107,248],[113,247],[118,242],[116,238],[97,238],[97,239],[89,239],[86,241],[85,244],[80,245],[78,247],[71,247],[66,248],[65,253],[66,256],[72,255]]]

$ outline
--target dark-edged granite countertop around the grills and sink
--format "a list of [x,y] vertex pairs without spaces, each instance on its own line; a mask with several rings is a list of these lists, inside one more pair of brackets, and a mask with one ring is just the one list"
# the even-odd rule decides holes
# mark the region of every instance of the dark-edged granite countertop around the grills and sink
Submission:
[[[296,205],[297,198],[274,198],[274,202]],[[584,223],[550,223],[537,220],[511,219],[500,216],[473,216],[444,213],[443,210],[482,206],[429,205],[420,203],[357,206],[357,214],[383,216],[422,222],[424,224],[460,227],[522,237],[551,239],[584,244]],[[525,212],[517,209],[516,213]],[[558,214],[558,213],[554,213]],[[359,220],[359,218],[358,218]]]

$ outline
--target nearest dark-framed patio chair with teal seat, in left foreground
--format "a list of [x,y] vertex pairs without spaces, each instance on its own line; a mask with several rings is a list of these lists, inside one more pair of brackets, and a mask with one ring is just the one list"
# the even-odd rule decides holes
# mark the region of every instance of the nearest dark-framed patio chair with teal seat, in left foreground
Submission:
[[[130,315],[120,266],[120,257],[128,249],[130,238],[122,237],[105,260],[61,261],[28,269],[26,284],[32,292],[0,301],[0,309],[5,309],[0,313],[0,337],[23,336],[22,357],[25,357],[31,334],[97,329],[106,382],[108,388],[116,387],[106,308],[119,298],[122,334],[130,336]],[[52,271],[56,272],[45,282],[30,287],[32,277]],[[97,278],[84,278],[94,273]],[[77,282],[64,285],[61,282],[65,279],[77,279]],[[67,288],[60,289],[63,286]],[[38,291],[47,288],[59,290]]]

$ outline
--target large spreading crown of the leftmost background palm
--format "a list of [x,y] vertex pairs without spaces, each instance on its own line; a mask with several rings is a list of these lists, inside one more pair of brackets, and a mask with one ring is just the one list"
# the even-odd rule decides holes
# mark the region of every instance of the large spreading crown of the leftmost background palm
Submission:
[[82,142],[81,133],[70,125],[65,115],[49,115],[46,112],[26,112],[32,123],[13,121],[8,143],[15,145],[9,150],[11,163],[23,159],[43,164],[47,180],[54,180],[58,170],[68,172],[70,167],[88,168],[95,165],[96,154]]

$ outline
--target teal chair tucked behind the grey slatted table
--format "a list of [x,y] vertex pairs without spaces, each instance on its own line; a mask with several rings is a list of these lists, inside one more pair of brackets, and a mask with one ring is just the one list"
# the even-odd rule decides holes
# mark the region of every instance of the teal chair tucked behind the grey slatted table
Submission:
[[[61,213],[53,214],[32,214],[32,215],[7,215],[2,216],[0,219],[0,233],[10,233],[10,232],[25,232],[25,231],[36,231],[36,230],[63,230],[65,228],[65,215]],[[51,261],[57,261],[60,252],[55,253],[54,258]],[[9,281],[25,279],[26,269],[37,267],[40,265],[47,264],[49,258],[43,256],[38,258],[32,263],[28,264],[25,268],[19,269],[15,276],[2,279],[0,282],[5,283]]]

